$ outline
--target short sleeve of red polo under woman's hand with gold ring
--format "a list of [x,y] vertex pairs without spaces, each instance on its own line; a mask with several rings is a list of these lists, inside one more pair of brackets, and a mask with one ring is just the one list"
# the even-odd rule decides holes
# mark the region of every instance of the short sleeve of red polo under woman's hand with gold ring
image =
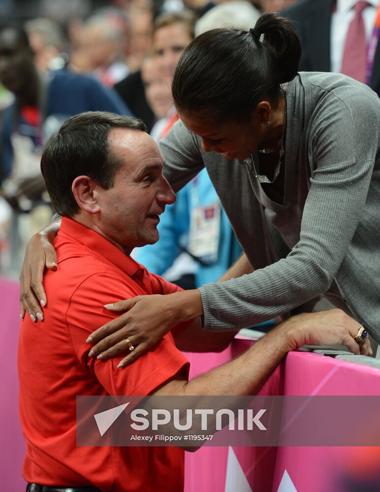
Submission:
[[[167,282],[160,277],[145,275],[149,276],[151,282],[157,282],[156,286],[152,284],[152,292],[159,293],[159,289],[162,293],[178,290],[173,284],[165,286]],[[85,340],[94,330],[120,315],[105,309],[104,304],[135,295],[116,275],[96,273],[78,286],[65,313],[69,335],[79,361],[95,375],[110,395],[148,395],[179,371],[184,378],[188,378],[189,363],[176,348],[170,334],[125,369],[117,369],[117,365],[128,351],[105,362],[88,356],[91,345]]]

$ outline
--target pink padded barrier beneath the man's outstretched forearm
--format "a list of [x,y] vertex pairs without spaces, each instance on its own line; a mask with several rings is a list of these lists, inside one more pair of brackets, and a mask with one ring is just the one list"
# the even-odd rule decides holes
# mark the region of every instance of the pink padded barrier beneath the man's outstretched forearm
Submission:
[[[250,340],[235,338],[221,354],[187,353],[190,376],[231,360],[251,344]],[[313,353],[291,352],[260,394],[379,396],[380,370]],[[337,466],[360,449],[364,448],[203,447],[186,453],[185,492],[338,491]]]

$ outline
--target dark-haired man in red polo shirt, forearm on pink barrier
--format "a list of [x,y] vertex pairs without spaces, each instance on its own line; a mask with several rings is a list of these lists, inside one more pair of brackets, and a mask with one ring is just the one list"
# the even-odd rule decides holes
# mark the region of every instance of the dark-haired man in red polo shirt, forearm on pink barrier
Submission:
[[[77,395],[207,395],[210,388],[213,394],[252,395],[289,350],[306,342],[356,345],[347,329],[337,330],[350,318],[335,310],[292,318],[245,354],[190,382],[188,361],[171,334],[126,369],[118,364],[133,349],[128,340],[121,342],[126,352],[114,359],[89,357],[86,339],[115,316],[104,305],[179,290],[129,256],[134,247],[158,240],[159,215],[175,200],[162,175],[162,154],[144,130],[132,118],[83,113],[63,123],[42,155],[42,174],[63,219],[54,242],[58,269],[44,279],[44,318],[35,324],[27,316],[21,326],[20,414],[29,492],[183,489],[179,448],[77,447]],[[188,329],[201,344],[210,336],[199,320]],[[212,337],[223,344],[230,336]]]

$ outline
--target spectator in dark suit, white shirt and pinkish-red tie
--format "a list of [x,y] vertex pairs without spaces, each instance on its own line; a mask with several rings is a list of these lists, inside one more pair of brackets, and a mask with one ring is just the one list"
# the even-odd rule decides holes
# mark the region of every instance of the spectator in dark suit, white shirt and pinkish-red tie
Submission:
[[379,0],[304,0],[283,15],[300,36],[300,70],[341,72],[380,95]]

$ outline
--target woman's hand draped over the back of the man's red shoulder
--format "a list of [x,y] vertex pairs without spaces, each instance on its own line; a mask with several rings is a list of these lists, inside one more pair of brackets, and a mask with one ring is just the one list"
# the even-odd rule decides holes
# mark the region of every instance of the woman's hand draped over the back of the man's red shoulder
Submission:
[[57,236],[61,219],[49,224],[34,234],[25,251],[24,263],[20,274],[20,316],[28,312],[32,321],[43,319],[42,308],[47,299],[42,285],[45,268],[57,270],[57,255],[51,245]]

